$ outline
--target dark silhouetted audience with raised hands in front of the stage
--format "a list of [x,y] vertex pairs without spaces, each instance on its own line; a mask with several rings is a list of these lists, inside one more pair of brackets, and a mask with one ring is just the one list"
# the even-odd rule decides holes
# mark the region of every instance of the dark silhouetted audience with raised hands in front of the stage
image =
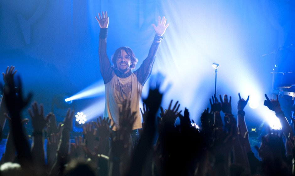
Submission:
[[[280,119],[282,131],[269,130],[261,138],[261,146],[256,147],[261,160],[251,151],[244,119],[247,118],[244,117],[244,107],[249,96],[244,100],[239,94],[236,117],[232,114],[231,97],[212,96],[210,109],[200,114],[201,127],[198,129],[191,124],[189,110],[182,113],[179,109],[179,102],[171,100],[167,109],[160,107],[162,94],[159,83],[143,100],[143,128],[136,146],[132,145],[130,138],[136,117],[128,102],[119,113],[120,128],[115,137],[112,136],[110,119],[98,117],[97,122],[83,125],[83,136],[76,137],[75,143],[70,143],[72,109],[67,110],[63,125],[57,125],[54,114],[44,116],[43,105],[33,102],[28,109],[29,123],[33,127],[30,147],[23,129],[27,119],[23,119],[21,114],[32,102],[32,95],[22,94],[21,80],[14,76],[15,73],[14,67],[8,67],[3,73],[4,85],[1,85],[4,93],[0,125],[3,129],[7,121],[10,127],[5,153],[0,161],[1,176],[295,175],[293,130],[277,98],[273,100],[265,95],[269,109],[275,111]],[[221,111],[224,117],[221,117]],[[180,119],[180,125],[175,125],[176,118]],[[155,136],[158,138],[154,144]],[[47,139],[47,159],[44,138]]]

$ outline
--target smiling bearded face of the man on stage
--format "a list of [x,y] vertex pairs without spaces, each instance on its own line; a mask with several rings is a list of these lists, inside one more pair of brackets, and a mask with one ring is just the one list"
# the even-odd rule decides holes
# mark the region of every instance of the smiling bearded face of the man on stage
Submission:
[[117,69],[122,73],[129,72],[131,59],[130,56],[125,52],[125,50],[121,50],[119,52],[117,60],[116,60]]

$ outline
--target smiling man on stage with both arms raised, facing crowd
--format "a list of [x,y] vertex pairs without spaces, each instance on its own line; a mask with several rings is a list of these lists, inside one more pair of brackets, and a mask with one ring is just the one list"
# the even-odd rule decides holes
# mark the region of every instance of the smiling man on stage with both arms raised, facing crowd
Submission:
[[[142,62],[142,65],[134,72],[131,69],[135,68],[137,58],[129,47],[118,48],[110,62],[106,54],[106,38],[109,25],[109,17],[107,12],[98,14],[95,17],[100,26],[99,33],[99,65],[100,73],[105,83],[105,112],[104,118],[112,119],[112,124],[115,123],[113,130],[120,128],[119,124],[119,109],[124,101],[130,101],[131,112],[136,112],[136,121],[133,124],[131,138],[134,143],[138,140],[138,129],[142,128],[140,115],[140,98],[144,83],[152,72],[153,63],[158,51],[163,34],[169,23],[166,24],[165,17],[158,17],[158,25],[152,24],[156,35],[152,46],[148,52],[147,58]],[[134,37],[134,36],[132,36]],[[113,66],[112,66],[113,65]]]

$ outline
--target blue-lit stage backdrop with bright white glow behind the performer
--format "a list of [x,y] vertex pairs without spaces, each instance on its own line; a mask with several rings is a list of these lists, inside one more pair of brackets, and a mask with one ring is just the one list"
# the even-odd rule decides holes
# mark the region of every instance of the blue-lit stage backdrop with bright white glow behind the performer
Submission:
[[[271,72],[295,72],[294,10],[294,0],[0,0],[0,72],[15,66],[24,91],[32,91],[33,100],[49,112],[54,95],[103,85],[97,13],[107,11],[110,17],[109,58],[118,47],[131,47],[139,59],[136,69],[153,41],[151,24],[165,16],[170,25],[152,73],[160,72],[164,85],[172,85],[162,106],[179,100],[198,122],[214,93],[211,65],[218,63],[217,94],[232,96],[233,114],[238,93],[250,95],[249,104],[258,107],[245,108],[246,122],[260,125],[273,116],[263,106],[264,93],[272,97]],[[292,74],[275,74],[275,84],[294,82]],[[98,89],[74,100],[77,112],[91,114],[89,118],[103,114],[104,89]],[[292,97],[281,99],[288,117]]]

